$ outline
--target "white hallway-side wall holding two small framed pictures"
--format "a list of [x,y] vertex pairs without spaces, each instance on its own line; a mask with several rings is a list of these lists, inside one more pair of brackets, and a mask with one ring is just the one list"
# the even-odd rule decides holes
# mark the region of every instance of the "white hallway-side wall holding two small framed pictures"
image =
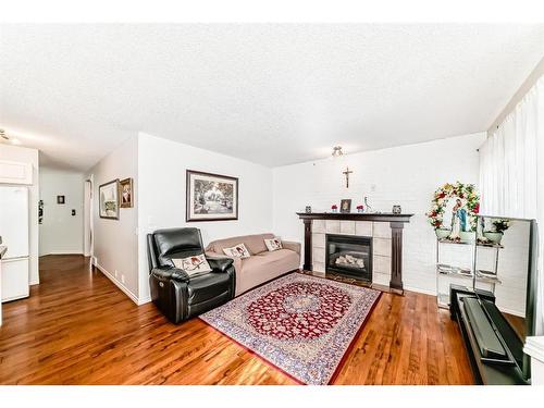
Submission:
[[[138,300],[138,205],[120,209],[119,220],[99,217],[98,187],[112,180],[133,177],[138,196],[138,140],[129,138],[91,170],[94,257],[97,267],[134,301]],[[83,188],[83,187],[82,187]]]

